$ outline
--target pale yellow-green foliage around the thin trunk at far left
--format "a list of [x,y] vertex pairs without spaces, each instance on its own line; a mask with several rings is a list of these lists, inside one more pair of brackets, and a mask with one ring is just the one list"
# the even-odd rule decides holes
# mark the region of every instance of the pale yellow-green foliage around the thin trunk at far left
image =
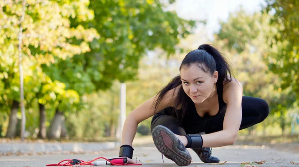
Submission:
[[[19,20],[22,10],[21,1],[4,1],[0,6],[0,46],[3,48],[0,51],[0,70],[2,72],[0,87],[5,88],[5,91],[1,91],[4,93],[1,97],[4,98],[2,101],[5,101],[5,106],[9,106],[8,103],[19,99],[18,51],[16,48],[19,26],[23,27],[22,63],[25,71],[25,101],[30,103],[35,97],[40,97],[39,102],[43,104],[60,100],[63,103],[61,107],[64,106],[62,108],[77,102],[79,99],[76,95],[77,92],[49,90],[49,87],[58,88],[60,83],[48,79],[39,66],[42,63],[53,63],[55,57],[66,59],[90,50],[87,42],[99,37],[96,30],[84,29],[81,25],[70,27],[69,20],[69,18],[79,21],[93,19],[93,12],[87,7],[88,1],[27,0],[24,20]],[[72,43],[74,39],[80,40],[80,42]],[[41,91],[46,88],[48,90]],[[60,95],[57,99],[55,93]]]

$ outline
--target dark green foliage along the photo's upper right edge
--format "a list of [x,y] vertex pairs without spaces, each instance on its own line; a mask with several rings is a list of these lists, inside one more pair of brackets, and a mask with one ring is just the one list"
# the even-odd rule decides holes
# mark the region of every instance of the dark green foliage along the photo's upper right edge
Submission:
[[299,1],[266,0],[265,12],[273,15],[271,26],[275,33],[268,35],[268,45],[273,48],[267,53],[269,68],[279,74],[282,89],[292,87],[299,97]]

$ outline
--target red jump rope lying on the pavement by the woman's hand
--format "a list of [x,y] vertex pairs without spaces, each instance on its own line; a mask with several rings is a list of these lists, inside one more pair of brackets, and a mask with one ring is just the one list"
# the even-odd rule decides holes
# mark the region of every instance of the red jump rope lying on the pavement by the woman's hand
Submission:
[[[98,159],[104,159],[106,161],[96,161]],[[121,158],[113,158],[107,159],[105,157],[98,157],[90,161],[83,161],[80,159],[65,159],[60,161],[58,164],[47,164],[46,166],[74,166],[74,165],[116,165],[116,166],[123,166],[123,165],[142,165],[142,164],[127,164],[128,159],[126,157]]]

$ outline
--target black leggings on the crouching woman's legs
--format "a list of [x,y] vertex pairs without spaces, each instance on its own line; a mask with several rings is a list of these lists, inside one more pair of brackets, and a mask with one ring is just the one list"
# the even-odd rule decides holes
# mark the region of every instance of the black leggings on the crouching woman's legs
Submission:
[[[239,130],[262,122],[269,114],[269,107],[265,100],[255,97],[242,97],[242,122]],[[151,121],[151,131],[157,125],[163,125],[177,135],[186,135],[205,132],[213,133],[223,130],[224,115],[215,119],[202,120],[200,126],[186,128],[175,116],[160,111]]]

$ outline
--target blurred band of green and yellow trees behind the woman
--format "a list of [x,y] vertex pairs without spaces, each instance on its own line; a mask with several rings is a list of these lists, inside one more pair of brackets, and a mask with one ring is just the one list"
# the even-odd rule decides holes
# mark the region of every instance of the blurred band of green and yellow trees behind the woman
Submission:
[[[20,22],[22,0],[0,1],[0,137],[20,135],[20,26],[27,137],[114,138],[120,83],[128,113],[179,74],[183,57],[203,42],[226,55],[244,95],[270,105],[262,124],[240,134],[298,133],[298,0],[265,0],[250,14],[240,8],[208,42],[192,31],[204,20],[178,17],[166,9],[172,3],[26,0]],[[150,119],[138,134],[149,129]]]

